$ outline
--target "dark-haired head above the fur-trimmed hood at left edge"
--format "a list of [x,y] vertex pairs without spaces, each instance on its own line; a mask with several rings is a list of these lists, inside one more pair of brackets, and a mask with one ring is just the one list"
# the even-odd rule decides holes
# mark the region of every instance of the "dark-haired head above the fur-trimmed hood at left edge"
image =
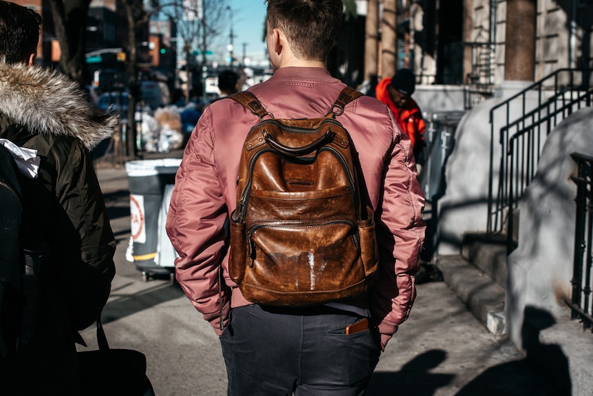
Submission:
[[0,61],[19,63],[36,53],[42,23],[34,10],[0,0]]

